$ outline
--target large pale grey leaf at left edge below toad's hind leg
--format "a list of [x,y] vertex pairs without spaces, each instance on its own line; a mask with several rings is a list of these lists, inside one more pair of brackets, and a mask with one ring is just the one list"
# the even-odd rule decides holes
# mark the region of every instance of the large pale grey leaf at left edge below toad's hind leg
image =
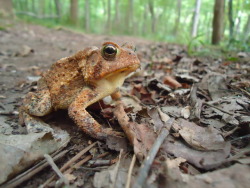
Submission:
[[0,136],[0,183],[69,142],[69,135],[57,129],[55,132],[29,133],[27,135]]

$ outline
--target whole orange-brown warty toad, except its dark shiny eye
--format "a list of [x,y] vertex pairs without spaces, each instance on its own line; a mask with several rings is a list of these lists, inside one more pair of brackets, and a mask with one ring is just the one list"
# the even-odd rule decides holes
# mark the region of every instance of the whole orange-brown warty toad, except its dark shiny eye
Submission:
[[[20,123],[49,114],[57,109],[68,109],[69,116],[90,136],[105,140],[109,135],[121,135],[103,128],[85,110],[89,105],[111,95],[119,96],[117,88],[125,77],[140,66],[131,46],[120,47],[113,59],[102,53],[102,48],[86,48],[75,55],[62,58],[51,66],[38,81],[38,90],[28,93],[20,107]],[[34,122],[34,120],[33,120]]]

